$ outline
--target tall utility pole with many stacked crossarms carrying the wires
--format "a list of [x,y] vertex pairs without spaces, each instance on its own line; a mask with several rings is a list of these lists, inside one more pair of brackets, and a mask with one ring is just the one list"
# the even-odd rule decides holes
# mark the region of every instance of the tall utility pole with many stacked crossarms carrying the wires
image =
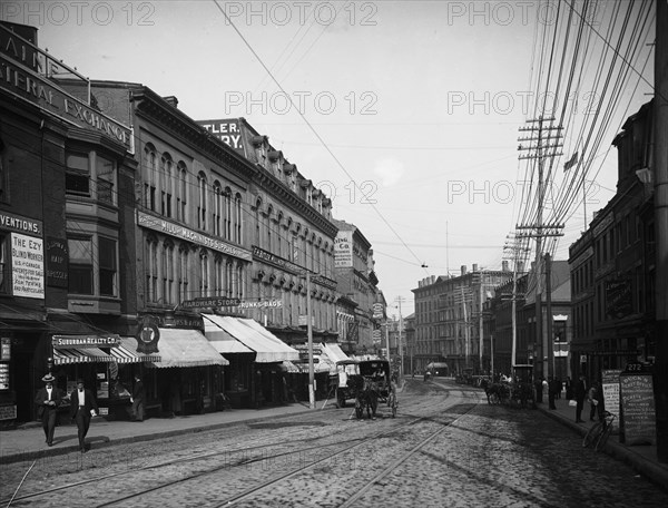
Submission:
[[[548,157],[561,156],[562,153],[558,152],[563,146],[561,141],[561,131],[563,127],[553,127],[552,121],[554,117],[543,118],[542,116],[537,119],[528,120],[531,124],[530,127],[520,128],[520,131],[528,133],[529,137],[519,138],[520,145],[518,150],[528,150],[527,155],[520,155],[520,159],[534,159],[538,163],[538,214],[537,222],[531,226],[519,226],[519,229],[533,229],[536,234],[536,342],[541,345],[540,360],[541,360],[541,375],[546,375],[549,370],[549,363],[547,361],[546,352],[548,345],[542,331],[542,240],[548,235],[546,226],[543,225],[543,207],[544,207],[544,164]],[[549,125],[544,125],[548,124]],[[528,145],[522,145],[527,143]],[[563,228],[563,226],[561,226]]]

